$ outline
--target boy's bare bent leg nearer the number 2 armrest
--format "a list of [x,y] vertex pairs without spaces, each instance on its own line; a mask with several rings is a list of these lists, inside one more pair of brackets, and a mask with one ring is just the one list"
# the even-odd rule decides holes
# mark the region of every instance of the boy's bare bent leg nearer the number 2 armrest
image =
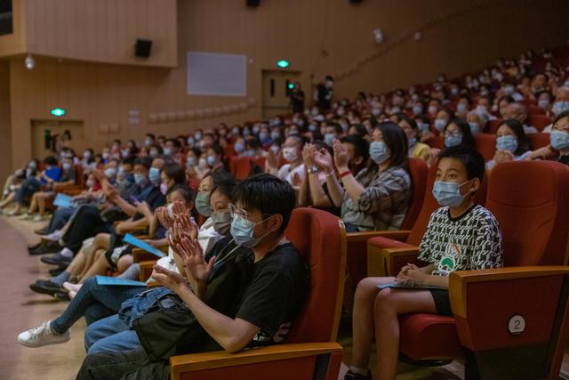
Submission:
[[399,357],[399,314],[409,312],[436,313],[433,296],[424,290],[383,289],[373,307],[375,342],[377,344],[378,377],[396,378]]

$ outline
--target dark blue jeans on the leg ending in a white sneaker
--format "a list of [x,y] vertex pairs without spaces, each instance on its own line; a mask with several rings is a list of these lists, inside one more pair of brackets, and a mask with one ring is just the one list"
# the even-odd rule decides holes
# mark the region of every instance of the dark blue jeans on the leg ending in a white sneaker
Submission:
[[88,324],[109,315],[115,314],[125,300],[138,295],[146,287],[120,287],[97,284],[97,279],[87,279],[83,287],[68,304],[60,317],[53,319],[52,329],[65,333],[78,319],[85,317]]

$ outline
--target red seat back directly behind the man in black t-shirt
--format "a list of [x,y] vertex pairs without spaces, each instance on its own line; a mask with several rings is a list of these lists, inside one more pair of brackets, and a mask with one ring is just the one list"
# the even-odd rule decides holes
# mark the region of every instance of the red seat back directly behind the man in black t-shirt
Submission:
[[309,265],[310,287],[288,343],[334,342],[338,333],[346,274],[346,230],[336,216],[297,208],[284,231]]

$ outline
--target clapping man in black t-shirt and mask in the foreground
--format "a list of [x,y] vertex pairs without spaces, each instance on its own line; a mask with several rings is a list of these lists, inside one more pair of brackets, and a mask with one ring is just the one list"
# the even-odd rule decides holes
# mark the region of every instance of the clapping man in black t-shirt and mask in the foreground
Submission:
[[[273,175],[260,174],[240,183],[234,198],[236,205],[229,206],[231,236],[239,246],[251,248],[254,255],[252,278],[244,287],[235,318],[204,303],[174,272],[156,266],[152,276],[179,295],[212,340],[228,352],[283,342],[309,287],[307,267],[301,262],[298,250],[284,238],[296,203],[292,186]],[[192,260],[199,260],[199,255],[192,253],[188,239],[181,239],[175,249],[188,257],[185,261],[188,267]],[[208,263],[210,268],[214,265]],[[192,276],[194,289],[199,289],[200,281],[207,279],[204,268]],[[140,351],[130,355],[125,352],[88,355],[77,378],[140,378],[148,374],[167,378],[164,362],[143,366],[144,360],[145,354]]]

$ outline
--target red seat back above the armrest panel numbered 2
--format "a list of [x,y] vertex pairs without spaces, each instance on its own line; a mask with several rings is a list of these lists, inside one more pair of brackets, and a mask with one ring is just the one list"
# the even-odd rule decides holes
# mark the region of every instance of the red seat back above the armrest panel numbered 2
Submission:
[[490,175],[486,208],[500,223],[506,266],[566,263],[569,234],[566,166],[552,161],[518,161],[496,166]]

